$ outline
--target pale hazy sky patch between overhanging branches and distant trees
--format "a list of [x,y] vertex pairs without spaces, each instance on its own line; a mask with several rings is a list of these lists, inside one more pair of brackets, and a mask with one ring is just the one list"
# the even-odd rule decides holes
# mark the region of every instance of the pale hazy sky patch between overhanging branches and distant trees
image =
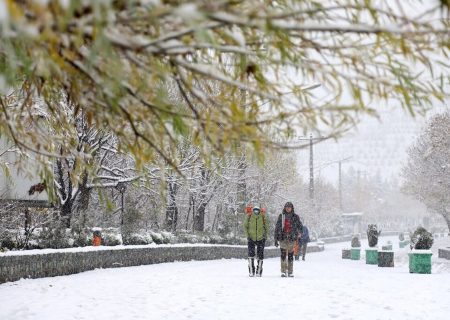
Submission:
[[[339,139],[327,140],[314,145],[316,177],[337,183],[338,163],[345,173],[350,167],[362,171],[362,175],[375,175],[379,171],[383,178],[398,176],[407,159],[407,149],[414,142],[426,123],[426,118],[412,118],[406,111],[396,108],[380,112],[380,119],[365,116],[361,123]],[[309,148],[297,151],[298,170],[302,177],[309,177]]]

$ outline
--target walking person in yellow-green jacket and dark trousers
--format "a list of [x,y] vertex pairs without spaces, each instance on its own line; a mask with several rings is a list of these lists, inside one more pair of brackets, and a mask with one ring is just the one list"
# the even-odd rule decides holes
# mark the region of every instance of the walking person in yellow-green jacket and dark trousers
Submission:
[[[263,260],[264,260],[264,246],[266,244],[267,235],[269,233],[269,225],[264,212],[261,212],[259,207],[247,209],[247,214],[244,219],[244,232],[247,236],[248,244],[248,273],[250,277],[261,277]],[[255,270],[255,246],[257,266]]]

